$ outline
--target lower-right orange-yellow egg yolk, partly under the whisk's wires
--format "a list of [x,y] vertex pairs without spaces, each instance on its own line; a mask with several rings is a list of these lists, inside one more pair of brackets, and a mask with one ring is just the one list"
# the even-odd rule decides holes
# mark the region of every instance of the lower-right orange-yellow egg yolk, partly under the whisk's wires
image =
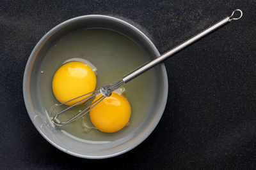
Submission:
[[[102,95],[95,97],[95,102]],[[122,95],[113,92],[111,96],[103,99],[92,110],[90,119],[92,124],[102,132],[117,132],[127,125],[131,117],[129,101]]]

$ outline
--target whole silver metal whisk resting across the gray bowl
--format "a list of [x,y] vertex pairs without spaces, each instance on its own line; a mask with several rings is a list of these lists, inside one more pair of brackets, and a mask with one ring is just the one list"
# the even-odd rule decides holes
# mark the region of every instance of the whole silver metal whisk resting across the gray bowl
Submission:
[[[234,13],[235,12],[239,12],[240,16],[239,17],[234,17]],[[77,120],[78,118],[83,117],[83,115],[85,115],[86,113],[88,113],[90,110],[92,110],[92,108],[94,108],[95,106],[97,106],[97,104],[100,103],[100,101],[104,100],[106,97],[111,96],[112,92],[115,89],[118,89],[118,87],[120,87],[121,85],[123,85],[124,83],[127,83],[128,81],[131,81],[132,79],[136,78],[137,76],[139,76],[140,74],[144,73],[145,71],[147,71],[148,69],[156,66],[157,64],[163,62],[163,60],[167,59],[168,57],[172,56],[173,54],[179,52],[180,50],[182,50],[183,48],[186,48],[187,46],[191,45],[192,43],[194,43],[195,41],[197,41],[198,39],[204,37],[205,35],[209,34],[210,32],[218,29],[219,27],[221,27],[222,25],[227,24],[228,22],[231,22],[232,20],[238,20],[239,18],[241,18],[243,15],[243,12],[241,10],[234,10],[232,15],[230,15],[229,17],[225,17],[222,20],[220,20],[219,22],[217,22],[216,24],[212,25],[211,27],[205,29],[204,31],[196,34],[195,36],[187,39],[186,41],[184,41],[183,43],[180,43],[180,45],[175,46],[174,48],[172,48],[171,50],[169,50],[168,52],[163,53],[163,55],[157,57],[156,59],[152,60],[151,62],[148,62],[147,64],[145,64],[144,66],[139,67],[138,69],[132,71],[132,73],[127,74],[127,76],[124,76],[124,78],[122,78],[121,80],[116,81],[115,83],[112,83],[110,85],[101,87],[98,90],[95,90],[93,92],[90,92],[88,94],[84,94],[83,96],[79,96],[76,97],[74,99],[71,99],[70,101],[74,101],[76,99],[79,99],[81,97],[84,96],[88,96],[85,99],[79,101],[78,103],[73,104],[72,106],[69,106],[68,108],[65,108],[64,110],[58,112],[53,118],[52,118],[52,123],[56,126],[56,127],[61,127],[65,124],[69,124],[71,122],[74,122],[75,120]],[[70,118],[69,120],[67,120],[67,122],[60,122],[58,121],[58,116],[61,113],[64,113],[67,110],[70,110],[70,108],[73,108],[74,106],[77,106],[77,104],[83,103],[84,101],[88,102],[92,97],[95,97],[99,94],[102,94],[101,97],[99,97],[99,99],[97,99],[96,101],[94,101],[92,104],[90,104],[90,106],[86,107],[83,111],[80,111],[77,115],[75,115],[74,117]],[[88,101],[87,101],[88,100]],[[56,106],[54,106],[54,108],[52,108],[51,114],[54,110],[56,110],[56,108],[70,102],[70,101],[66,101],[65,103],[61,103],[58,104]]]

